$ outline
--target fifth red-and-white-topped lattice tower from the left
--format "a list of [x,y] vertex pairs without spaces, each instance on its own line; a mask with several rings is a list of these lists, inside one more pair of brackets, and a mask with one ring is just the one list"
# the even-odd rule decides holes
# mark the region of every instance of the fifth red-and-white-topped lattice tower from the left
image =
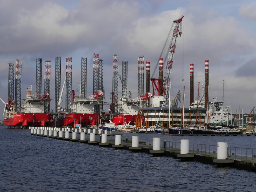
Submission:
[[113,55],[112,111],[118,114],[118,55]]

